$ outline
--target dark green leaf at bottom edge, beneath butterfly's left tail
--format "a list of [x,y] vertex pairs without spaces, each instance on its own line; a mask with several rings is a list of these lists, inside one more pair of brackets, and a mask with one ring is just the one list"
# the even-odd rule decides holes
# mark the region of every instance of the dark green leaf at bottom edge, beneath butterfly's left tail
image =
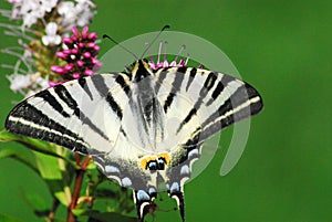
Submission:
[[[76,214],[77,213],[77,214]],[[137,218],[132,218],[127,215],[122,215],[114,212],[100,212],[95,210],[74,210],[75,215],[89,216],[87,222],[137,222]]]

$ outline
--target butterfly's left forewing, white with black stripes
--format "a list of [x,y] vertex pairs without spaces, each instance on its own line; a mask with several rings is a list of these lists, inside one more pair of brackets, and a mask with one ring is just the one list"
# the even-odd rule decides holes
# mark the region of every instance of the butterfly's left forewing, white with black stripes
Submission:
[[6,128],[83,154],[107,152],[120,128],[124,92],[122,74],[101,74],[42,91],[18,104]]

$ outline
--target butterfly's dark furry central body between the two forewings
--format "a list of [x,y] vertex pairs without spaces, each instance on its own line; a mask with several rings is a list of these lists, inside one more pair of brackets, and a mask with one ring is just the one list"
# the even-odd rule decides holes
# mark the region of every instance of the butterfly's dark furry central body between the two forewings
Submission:
[[[132,84],[128,106],[132,116],[136,119],[131,121],[132,128],[136,131],[133,134],[132,142],[138,145],[142,149],[156,154],[157,141],[164,139],[164,113],[155,93],[154,72],[148,63],[138,60],[132,70]],[[124,119],[126,121],[126,119]],[[137,134],[137,131],[139,134]],[[139,137],[137,137],[139,135]],[[131,135],[128,135],[131,137]]]

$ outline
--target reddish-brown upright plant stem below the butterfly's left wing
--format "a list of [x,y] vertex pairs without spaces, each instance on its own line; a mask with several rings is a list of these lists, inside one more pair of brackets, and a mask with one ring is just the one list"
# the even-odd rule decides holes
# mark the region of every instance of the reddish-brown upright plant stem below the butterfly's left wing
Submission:
[[74,183],[74,191],[72,194],[72,201],[68,208],[68,216],[66,216],[68,222],[76,222],[76,216],[74,215],[72,210],[74,210],[76,208],[77,200],[80,198],[80,191],[82,188],[83,177],[84,177],[86,167],[89,165],[89,161],[91,159],[91,157],[87,156],[81,163],[81,156],[77,152],[75,152],[75,158],[76,158],[76,165],[79,166],[79,169],[76,170],[76,178],[75,178],[75,183]]

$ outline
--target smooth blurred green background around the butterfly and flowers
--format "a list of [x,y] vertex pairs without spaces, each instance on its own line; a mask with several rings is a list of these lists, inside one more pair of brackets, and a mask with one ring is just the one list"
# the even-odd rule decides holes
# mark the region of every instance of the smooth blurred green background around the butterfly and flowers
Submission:
[[[332,1],[98,0],[96,4],[90,29],[98,35],[107,33],[121,42],[170,24],[173,31],[220,47],[263,97],[264,110],[252,118],[236,168],[219,176],[229,129],[222,135],[224,149],[185,186],[188,222],[332,221]],[[2,0],[1,8],[9,4]],[[17,43],[3,35],[2,28],[0,32],[1,49]],[[110,42],[101,47],[102,55]],[[0,56],[1,63],[13,62]],[[6,74],[0,72],[1,126],[12,101],[21,99],[9,89]],[[6,146],[17,145],[0,144]],[[50,201],[37,175],[14,160],[1,159],[0,213],[38,221],[22,192],[39,192]],[[156,221],[180,221],[177,213],[156,212]]]

